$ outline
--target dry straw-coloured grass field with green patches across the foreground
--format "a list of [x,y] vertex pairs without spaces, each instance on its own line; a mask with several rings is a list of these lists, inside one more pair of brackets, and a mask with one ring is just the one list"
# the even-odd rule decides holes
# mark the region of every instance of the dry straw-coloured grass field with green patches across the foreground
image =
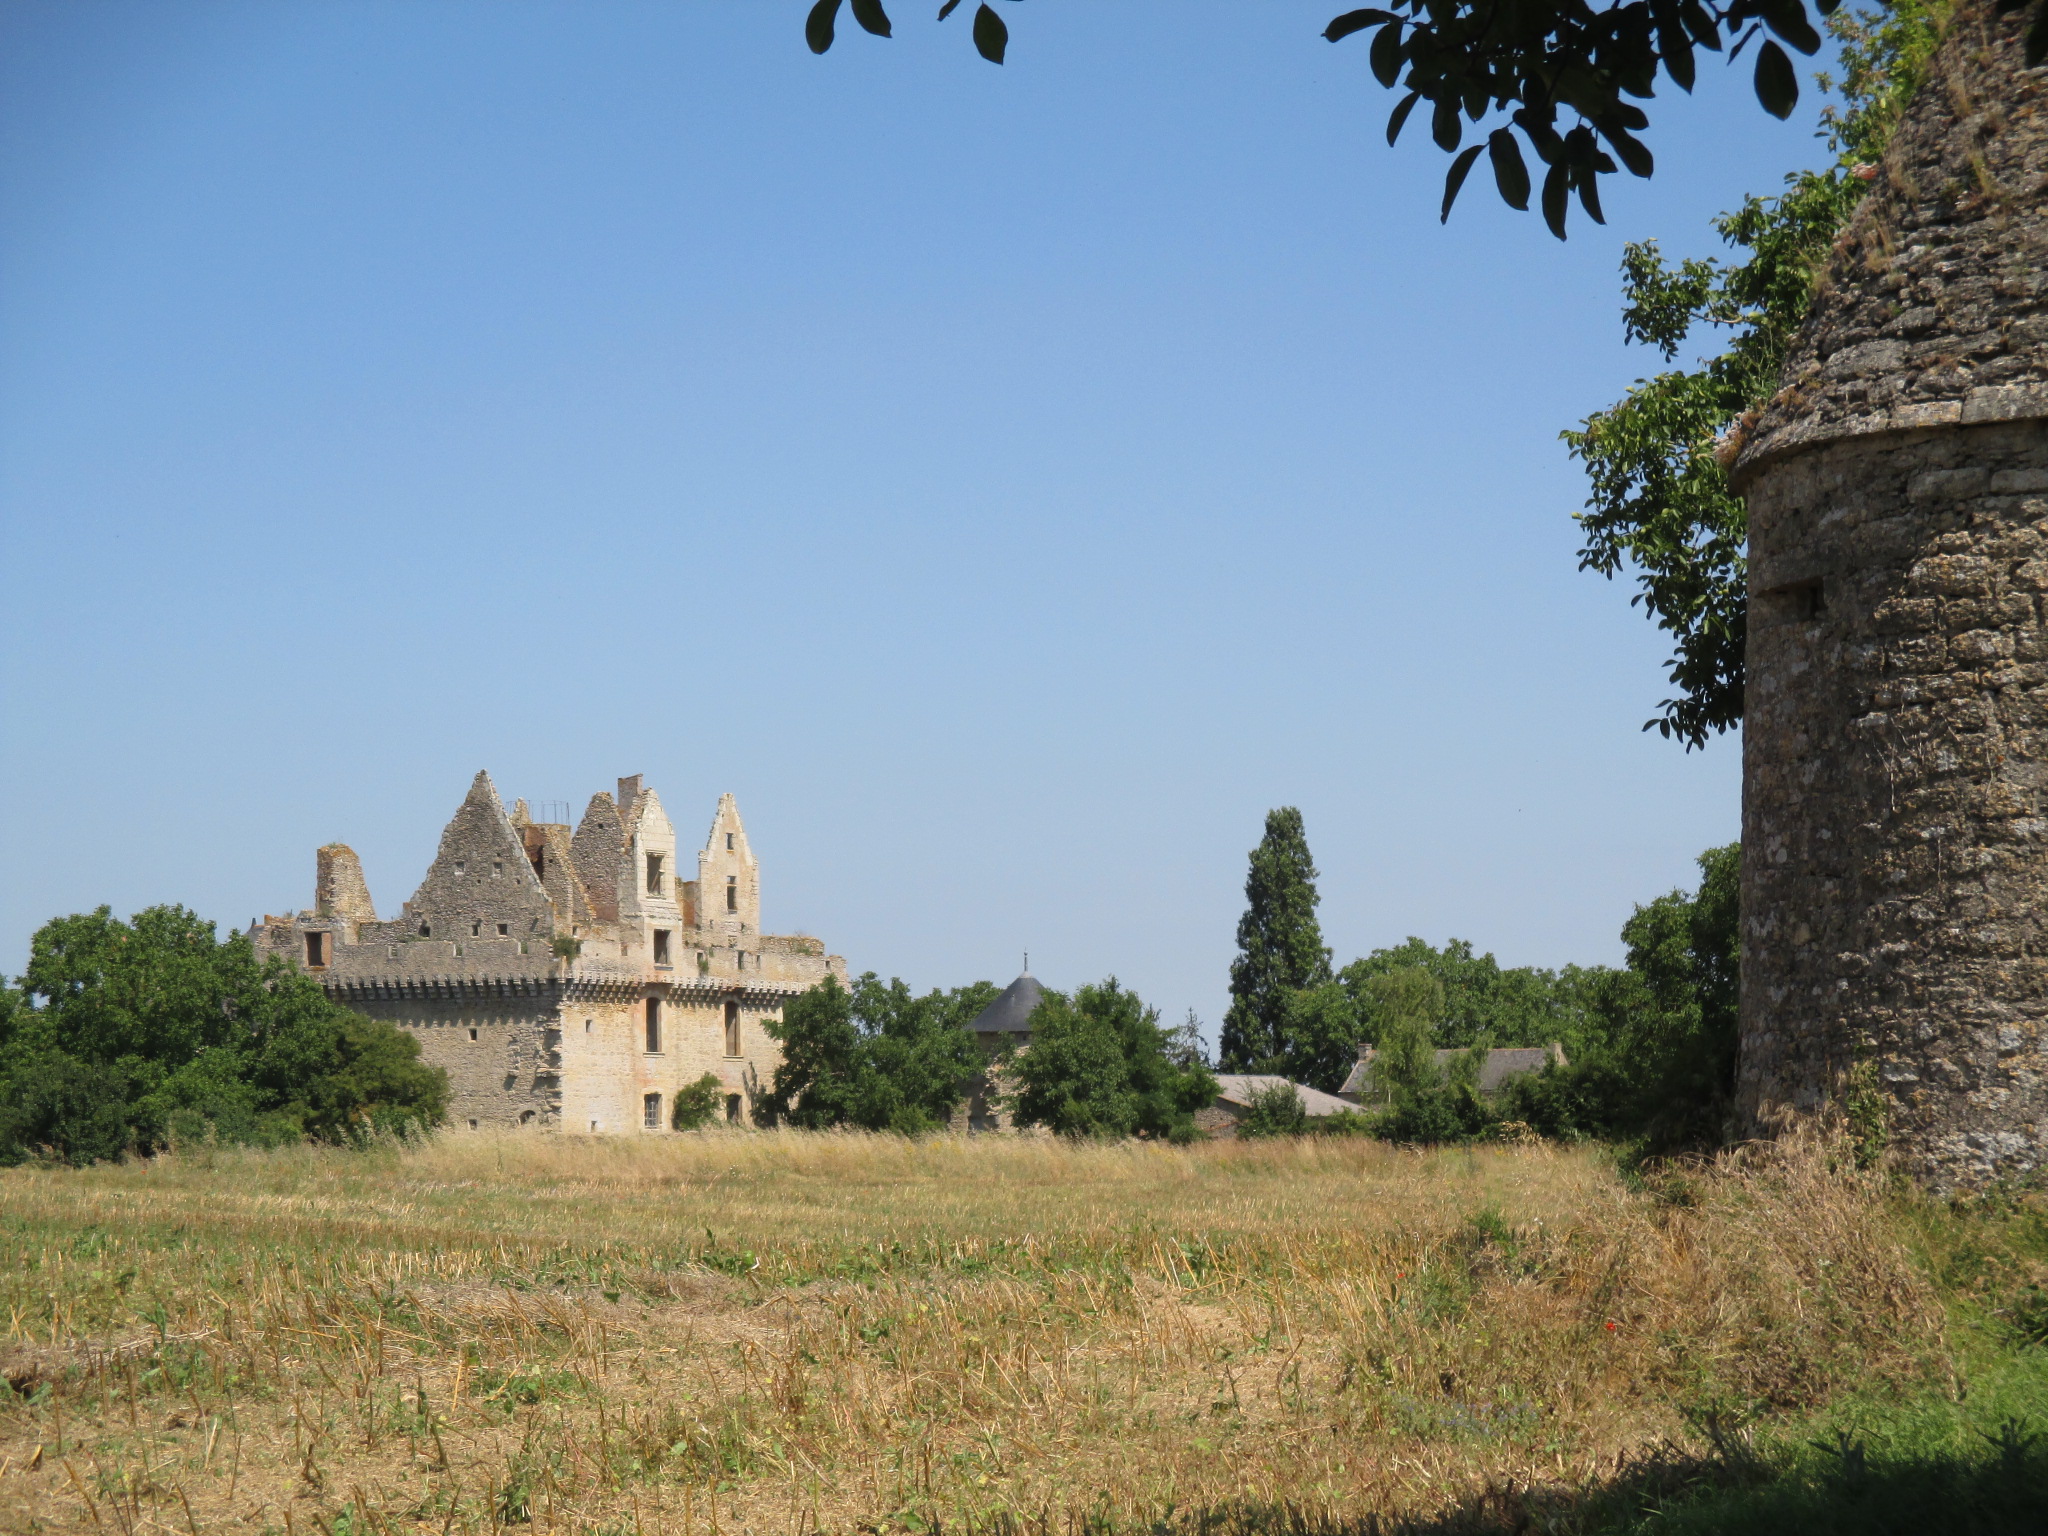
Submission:
[[0,1530],[1606,1530],[1659,1501],[1675,1530],[1776,1499],[1815,1532],[1800,1499],[1915,1468],[2032,1487],[2040,1210],[1833,1161],[1632,1186],[1550,1147],[719,1133],[12,1169]]

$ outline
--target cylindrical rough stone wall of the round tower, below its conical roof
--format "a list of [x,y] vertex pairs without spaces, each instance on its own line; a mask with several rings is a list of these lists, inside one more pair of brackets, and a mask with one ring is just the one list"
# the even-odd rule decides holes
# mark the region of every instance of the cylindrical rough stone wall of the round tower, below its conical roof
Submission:
[[1741,1100],[1882,1112],[1937,1184],[2048,1159],[2048,426],[1847,440],[1749,494]]

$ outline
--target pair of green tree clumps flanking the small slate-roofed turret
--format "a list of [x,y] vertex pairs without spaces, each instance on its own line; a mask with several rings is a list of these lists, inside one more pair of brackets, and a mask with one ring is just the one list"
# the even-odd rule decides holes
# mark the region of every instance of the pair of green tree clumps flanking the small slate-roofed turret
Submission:
[[987,1055],[967,1028],[997,989],[987,981],[913,995],[870,971],[852,989],[827,977],[766,1024],[782,1061],[756,1118],[807,1130],[854,1126],[922,1135],[950,1124],[977,1087],[1020,1126],[1069,1137],[1192,1141],[1194,1112],[1217,1098],[1192,1022],[1159,1010],[1116,977],[1047,991],[1030,1049]]

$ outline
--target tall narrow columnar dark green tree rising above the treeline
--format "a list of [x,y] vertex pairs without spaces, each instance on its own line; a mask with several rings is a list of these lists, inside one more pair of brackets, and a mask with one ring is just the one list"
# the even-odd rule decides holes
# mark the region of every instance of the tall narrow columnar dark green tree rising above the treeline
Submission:
[[1317,901],[1300,811],[1292,805],[1268,811],[1266,838],[1251,850],[1245,877],[1245,915],[1237,922],[1219,1053],[1225,1071],[1272,1071],[1286,1061],[1294,993],[1329,981]]

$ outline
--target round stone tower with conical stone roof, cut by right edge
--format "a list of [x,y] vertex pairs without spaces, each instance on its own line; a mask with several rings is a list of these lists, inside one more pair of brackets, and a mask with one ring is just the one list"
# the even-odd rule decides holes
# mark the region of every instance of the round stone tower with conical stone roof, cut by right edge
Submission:
[[1751,1133],[2048,1163],[2048,70],[1966,0],[1843,231],[1749,504]]

